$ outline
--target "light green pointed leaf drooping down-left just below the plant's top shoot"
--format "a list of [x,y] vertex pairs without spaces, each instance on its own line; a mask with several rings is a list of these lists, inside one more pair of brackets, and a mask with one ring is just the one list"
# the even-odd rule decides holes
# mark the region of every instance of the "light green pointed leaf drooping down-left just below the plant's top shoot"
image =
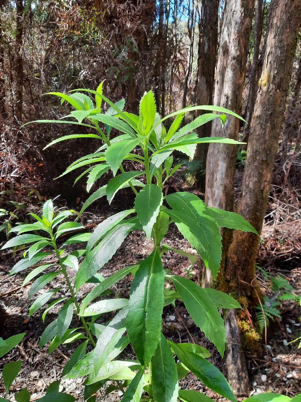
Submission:
[[110,165],[110,168],[115,176],[117,170],[119,169],[122,161],[126,157],[129,152],[140,144],[143,141],[143,137],[134,138],[134,139],[126,139],[124,141],[115,142],[106,150],[106,161]]

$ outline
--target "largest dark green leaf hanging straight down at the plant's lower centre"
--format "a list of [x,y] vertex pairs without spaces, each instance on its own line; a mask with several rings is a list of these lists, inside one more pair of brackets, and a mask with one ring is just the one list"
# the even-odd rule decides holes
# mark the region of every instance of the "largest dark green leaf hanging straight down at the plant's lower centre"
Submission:
[[136,272],[130,288],[126,329],[142,365],[149,363],[161,335],[165,271],[157,250]]

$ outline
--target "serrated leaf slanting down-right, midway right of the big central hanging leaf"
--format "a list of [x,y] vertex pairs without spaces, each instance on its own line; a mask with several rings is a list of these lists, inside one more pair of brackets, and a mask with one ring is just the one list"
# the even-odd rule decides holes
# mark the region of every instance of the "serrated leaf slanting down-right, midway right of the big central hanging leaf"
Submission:
[[224,320],[208,293],[189,279],[174,275],[170,278],[195,324],[223,356],[226,342]]

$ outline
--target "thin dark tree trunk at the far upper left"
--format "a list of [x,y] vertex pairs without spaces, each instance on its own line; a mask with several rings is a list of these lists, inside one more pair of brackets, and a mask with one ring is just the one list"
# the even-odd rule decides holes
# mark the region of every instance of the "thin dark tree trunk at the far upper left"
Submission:
[[23,9],[23,0],[16,0],[16,118],[19,122],[22,122],[24,81],[22,56]]

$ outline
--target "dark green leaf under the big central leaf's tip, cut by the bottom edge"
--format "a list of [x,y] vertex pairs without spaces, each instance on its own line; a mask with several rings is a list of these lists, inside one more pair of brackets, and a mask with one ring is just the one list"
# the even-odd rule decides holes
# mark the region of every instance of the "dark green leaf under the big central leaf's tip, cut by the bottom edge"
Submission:
[[151,359],[153,393],[156,402],[177,402],[179,393],[178,374],[173,353],[161,334],[155,355]]

